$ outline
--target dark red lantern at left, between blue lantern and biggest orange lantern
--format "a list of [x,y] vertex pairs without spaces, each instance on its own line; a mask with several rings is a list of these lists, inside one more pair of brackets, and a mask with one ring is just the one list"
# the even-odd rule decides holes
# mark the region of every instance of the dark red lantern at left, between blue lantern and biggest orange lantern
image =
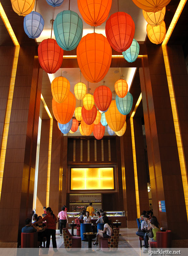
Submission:
[[47,73],[55,73],[63,61],[63,49],[52,39],[44,39],[38,47],[39,63]]

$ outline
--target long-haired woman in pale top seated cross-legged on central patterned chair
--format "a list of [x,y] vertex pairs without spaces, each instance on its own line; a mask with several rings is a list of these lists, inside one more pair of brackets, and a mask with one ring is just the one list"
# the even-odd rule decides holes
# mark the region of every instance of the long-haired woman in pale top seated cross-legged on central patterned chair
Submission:
[[101,217],[103,218],[103,222],[104,222],[104,230],[100,230],[97,233],[97,237],[96,237],[96,241],[93,243],[93,245],[98,245],[99,244],[99,249],[97,249],[96,251],[100,251],[100,238],[101,237],[105,237],[108,238],[112,235],[113,229],[109,224],[109,220],[107,216],[103,216]]

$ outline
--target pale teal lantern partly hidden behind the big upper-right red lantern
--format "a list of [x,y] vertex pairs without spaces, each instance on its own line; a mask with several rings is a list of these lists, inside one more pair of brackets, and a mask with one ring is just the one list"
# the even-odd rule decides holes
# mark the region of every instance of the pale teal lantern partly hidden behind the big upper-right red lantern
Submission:
[[137,59],[140,51],[140,46],[139,43],[137,42],[136,39],[133,38],[131,46],[123,52],[123,56],[128,62],[133,62]]

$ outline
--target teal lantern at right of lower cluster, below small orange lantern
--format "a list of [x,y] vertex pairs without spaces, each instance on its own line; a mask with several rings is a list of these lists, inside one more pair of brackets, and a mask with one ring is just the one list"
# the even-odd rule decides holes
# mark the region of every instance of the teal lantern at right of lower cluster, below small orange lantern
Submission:
[[120,98],[118,97],[118,95],[116,95],[115,103],[119,112],[122,115],[127,115],[130,113],[131,108],[133,106],[133,96],[130,92],[128,92],[124,98]]

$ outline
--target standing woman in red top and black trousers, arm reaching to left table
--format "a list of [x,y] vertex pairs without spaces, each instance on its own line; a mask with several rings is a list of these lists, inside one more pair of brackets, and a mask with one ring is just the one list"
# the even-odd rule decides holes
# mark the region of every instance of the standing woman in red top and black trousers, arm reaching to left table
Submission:
[[54,252],[57,252],[57,244],[56,244],[56,223],[57,223],[57,217],[53,214],[53,211],[50,207],[46,208],[47,215],[39,221],[36,221],[35,224],[41,223],[43,221],[46,221],[47,227],[46,227],[46,248],[44,251],[44,254],[48,254],[49,247],[50,247],[50,237],[52,236],[52,245]]

